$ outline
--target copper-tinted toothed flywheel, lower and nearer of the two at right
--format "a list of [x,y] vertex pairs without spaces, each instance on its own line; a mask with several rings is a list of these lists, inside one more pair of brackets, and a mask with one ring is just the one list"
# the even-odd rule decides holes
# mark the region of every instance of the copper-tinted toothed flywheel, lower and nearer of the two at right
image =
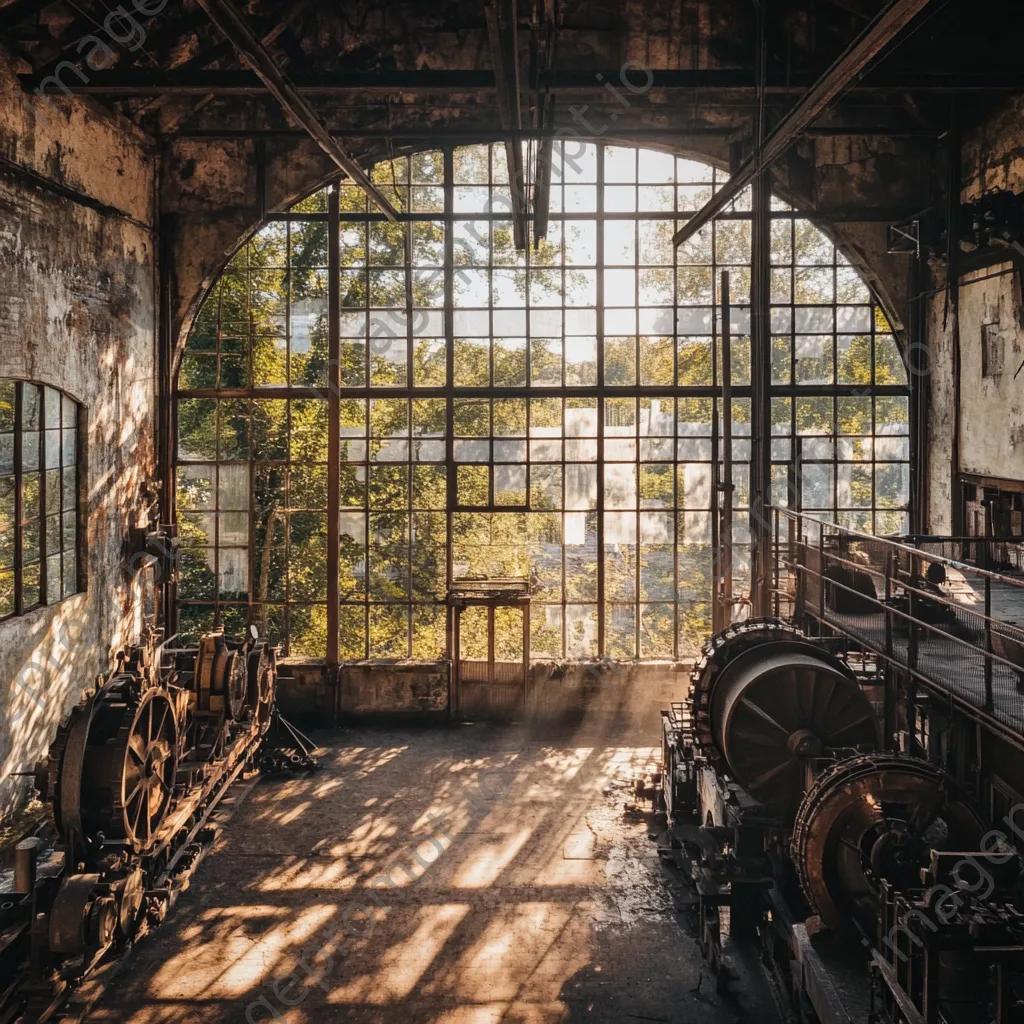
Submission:
[[810,788],[793,830],[793,859],[822,922],[873,928],[881,880],[921,884],[931,850],[977,850],[985,824],[939,767],[896,754],[842,761]]

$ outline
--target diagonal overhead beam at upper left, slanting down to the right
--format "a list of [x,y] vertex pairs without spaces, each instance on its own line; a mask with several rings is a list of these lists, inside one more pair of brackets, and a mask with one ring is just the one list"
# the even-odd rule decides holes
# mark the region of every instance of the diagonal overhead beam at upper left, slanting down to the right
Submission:
[[388,220],[397,221],[398,211],[370,180],[356,161],[331,135],[319,116],[295,90],[266,47],[252,34],[245,18],[231,6],[229,0],[197,0],[197,3],[210,15],[210,20],[259,76],[285,113],[309,132],[316,144],[362,188]]

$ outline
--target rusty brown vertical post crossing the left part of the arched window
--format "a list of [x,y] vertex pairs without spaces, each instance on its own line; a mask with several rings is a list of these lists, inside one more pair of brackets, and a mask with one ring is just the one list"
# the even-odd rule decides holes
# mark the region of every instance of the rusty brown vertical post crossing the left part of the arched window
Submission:
[[[341,568],[341,196],[335,185],[328,198],[328,394],[327,394],[327,664],[339,662]],[[341,685],[340,680],[335,681]]]

